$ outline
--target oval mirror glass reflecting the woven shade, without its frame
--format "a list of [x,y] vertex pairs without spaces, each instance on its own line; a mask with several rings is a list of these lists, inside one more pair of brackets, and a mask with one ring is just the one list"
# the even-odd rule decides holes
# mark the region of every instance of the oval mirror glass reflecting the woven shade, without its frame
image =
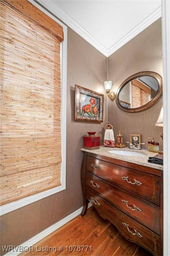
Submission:
[[151,101],[158,89],[159,84],[154,77],[139,76],[122,87],[118,100],[124,108],[138,108]]

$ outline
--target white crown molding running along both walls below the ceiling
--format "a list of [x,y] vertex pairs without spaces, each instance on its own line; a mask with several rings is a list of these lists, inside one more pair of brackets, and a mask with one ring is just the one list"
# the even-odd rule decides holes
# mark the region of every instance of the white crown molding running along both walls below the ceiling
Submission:
[[60,8],[55,0],[42,1],[37,0],[42,6],[49,10],[53,15],[59,18],[67,26],[73,29],[78,35],[83,37],[87,42],[93,45],[98,51],[103,53],[106,57],[109,57],[112,53],[121,48],[124,44],[130,41],[133,37],[139,34],[142,30],[147,28],[150,24],[161,17],[161,6],[159,6],[155,11],[153,11],[149,16],[147,16],[143,21],[131,29],[124,37],[113,44],[109,49],[107,49],[103,44],[101,44],[96,38],[94,38],[87,30],[85,30],[78,22],[76,22],[71,16],[69,16],[62,8]]

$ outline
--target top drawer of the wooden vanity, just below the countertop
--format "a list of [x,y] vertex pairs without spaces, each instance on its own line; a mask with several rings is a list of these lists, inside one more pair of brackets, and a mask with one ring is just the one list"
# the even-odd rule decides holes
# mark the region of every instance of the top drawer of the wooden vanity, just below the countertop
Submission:
[[159,205],[160,177],[87,156],[86,170]]

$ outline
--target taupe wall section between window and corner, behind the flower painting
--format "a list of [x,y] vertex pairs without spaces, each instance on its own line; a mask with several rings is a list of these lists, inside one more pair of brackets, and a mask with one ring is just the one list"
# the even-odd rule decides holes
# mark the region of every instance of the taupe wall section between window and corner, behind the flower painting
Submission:
[[[1,245],[20,245],[83,205],[80,148],[87,131],[96,131],[103,139],[107,123],[107,97],[102,84],[107,79],[106,62],[103,54],[68,28],[66,190],[1,216]],[[74,121],[75,84],[104,94],[103,123]]]

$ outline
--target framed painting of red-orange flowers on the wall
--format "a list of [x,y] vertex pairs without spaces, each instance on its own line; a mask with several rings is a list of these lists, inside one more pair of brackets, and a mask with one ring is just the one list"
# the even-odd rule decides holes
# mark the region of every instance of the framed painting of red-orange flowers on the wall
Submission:
[[77,121],[103,122],[104,95],[75,85],[75,117]]

